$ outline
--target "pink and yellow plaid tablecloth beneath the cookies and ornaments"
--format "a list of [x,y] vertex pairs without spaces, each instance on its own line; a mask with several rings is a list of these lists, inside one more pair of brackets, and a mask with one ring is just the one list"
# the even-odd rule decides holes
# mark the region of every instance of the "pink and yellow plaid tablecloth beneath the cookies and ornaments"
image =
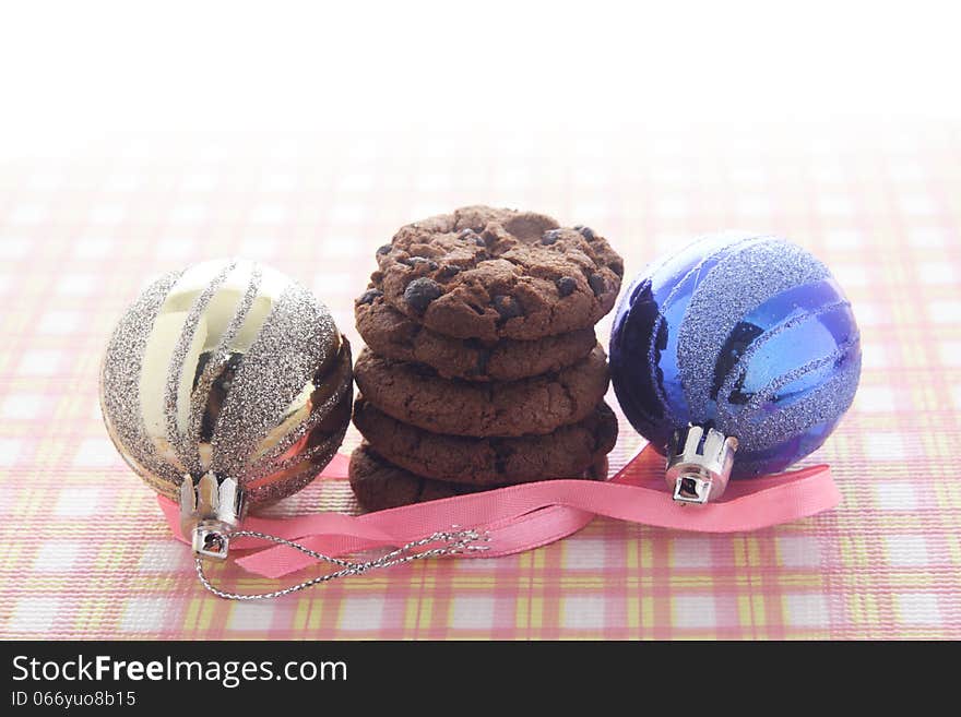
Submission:
[[[855,406],[808,463],[844,495],[749,535],[596,519],[498,560],[434,560],[259,604],[197,583],[104,432],[106,337],[162,271],[239,254],[312,287],[359,345],[376,247],[467,203],[606,235],[634,274],[761,229],[833,270]],[[0,159],[0,635],[181,638],[961,637],[961,126],[597,134],[110,136]],[[606,334],[609,320],[602,325]],[[348,434],[345,450],[357,442]],[[615,467],[641,445],[626,423]],[[315,485],[275,513],[353,510]],[[245,590],[281,582],[236,566]]]

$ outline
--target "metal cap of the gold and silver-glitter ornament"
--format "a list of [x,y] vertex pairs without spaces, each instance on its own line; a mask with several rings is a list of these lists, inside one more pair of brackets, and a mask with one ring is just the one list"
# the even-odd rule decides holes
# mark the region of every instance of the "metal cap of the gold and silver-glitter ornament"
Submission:
[[224,560],[230,533],[244,517],[244,491],[233,478],[217,478],[213,470],[199,479],[185,476],[180,483],[180,533],[197,555]]

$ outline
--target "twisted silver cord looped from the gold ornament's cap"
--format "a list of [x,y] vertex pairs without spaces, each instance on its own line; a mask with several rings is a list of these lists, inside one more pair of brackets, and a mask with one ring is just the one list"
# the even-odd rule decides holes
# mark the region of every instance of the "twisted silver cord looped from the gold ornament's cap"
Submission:
[[[197,577],[200,579],[201,584],[211,593],[216,595],[217,597],[224,598],[226,600],[268,600],[271,598],[283,597],[284,595],[289,595],[290,593],[297,593],[298,590],[307,589],[308,587],[313,587],[315,585],[320,585],[321,583],[328,583],[332,579],[336,579],[339,577],[347,577],[351,575],[360,575],[371,570],[377,570],[379,567],[391,567],[393,565],[401,565],[403,563],[410,563],[415,560],[422,560],[424,558],[437,558],[440,555],[458,555],[467,550],[471,551],[479,551],[479,550],[488,550],[487,546],[476,545],[477,542],[488,542],[490,538],[487,537],[487,534],[478,533],[477,530],[450,530],[444,533],[435,533],[432,535],[427,536],[426,538],[420,538],[419,540],[414,540],[408,542],[396,550],[392,550],[389,553],[377,558],[376,560],[369,560],[365,562],[353,562],[349,560],[342,560],[340,558],[331,558],[330,555],[324,555],[323,553],[311,550],[306,546],[301,546],[298,542],[294,542],[293,540],[287,540],[286,538],[280,538],[277,536],[268,535],[265,533],[258,533],[256,530],[237,530],[229,535],[233,538],[259,538],[261,540],[268,540],[270,542],[275,542],[281,546],[287,546],[288,548],[294,548],[295,550],[299,550],[300,552],[310,555],[315,560],[330,563],[332,565],[337,565],[341,570],[337,570],[333,573],[328,573],[327,575],[319,575],[318,577],[313,577],[309,581],[304,581],[302,583],[298,583],[297,585],[292,585],[290,587],[285,587],[281,590],[274,590],[272,593],[258,593],[251,595],[242,595],[240,593],[227,593],[226,590],[222,590],[210,582],[206,574],[203,571],[203,559],[194,558],[194,565],[197,567]],[[442,546],[438,546],[437,548],[430,548],[428,550],[424,550],[422,552],[412,552],[416,548],[422,548],[424,546],[428,546],[435,542],[442,542]]]

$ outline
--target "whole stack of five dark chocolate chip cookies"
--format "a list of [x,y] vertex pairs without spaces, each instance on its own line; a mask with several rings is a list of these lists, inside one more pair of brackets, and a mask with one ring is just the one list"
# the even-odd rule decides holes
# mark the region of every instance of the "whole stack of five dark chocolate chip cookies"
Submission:
[[363,507],[606,478],[617,420],[594,325],[624,275],[606,240],[471,206],[401,228],[377,262],[355,303]]

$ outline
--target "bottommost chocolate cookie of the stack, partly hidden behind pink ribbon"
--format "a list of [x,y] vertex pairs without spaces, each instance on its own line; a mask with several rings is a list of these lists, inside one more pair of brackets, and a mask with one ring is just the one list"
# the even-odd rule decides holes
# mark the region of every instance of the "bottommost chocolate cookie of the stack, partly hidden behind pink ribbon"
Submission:
[[[367,443],[361,443],[351,455],[349,477],[354,495],[366,511],[385,511],[483,490],[416,476],[378,455]],[[607,457],[598,458],[582,474],[582,478],[605,480]]]

